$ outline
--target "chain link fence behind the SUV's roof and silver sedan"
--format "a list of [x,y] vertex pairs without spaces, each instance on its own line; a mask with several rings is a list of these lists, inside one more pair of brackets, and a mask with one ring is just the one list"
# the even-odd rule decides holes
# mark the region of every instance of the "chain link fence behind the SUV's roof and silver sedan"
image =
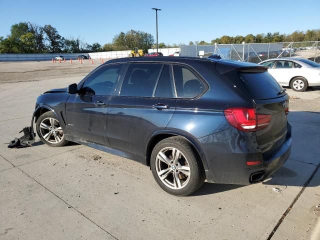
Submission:
[[224,59],[258,63],[270,58],[301,57],[320,63],[320,41],[270,42],[214,45],[182,45],[180,56],[219,54]]

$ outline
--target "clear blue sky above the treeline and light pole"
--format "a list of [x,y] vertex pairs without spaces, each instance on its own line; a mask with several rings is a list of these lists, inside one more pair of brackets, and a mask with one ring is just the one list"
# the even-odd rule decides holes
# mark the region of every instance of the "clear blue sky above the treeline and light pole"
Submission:
[[89,44],[110,42],[129,29],[155,38],[152,7],[162,9],[158,34],[164,43],[320,28],[319,0],[0,0],[0,36],[9,34],[13,23],[30,21]]

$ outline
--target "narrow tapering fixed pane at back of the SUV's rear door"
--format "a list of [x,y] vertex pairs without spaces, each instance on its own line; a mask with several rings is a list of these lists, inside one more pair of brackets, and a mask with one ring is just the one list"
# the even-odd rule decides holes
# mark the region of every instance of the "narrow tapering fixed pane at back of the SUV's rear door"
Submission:
[[154,97],[173,97],[173,86],[169,74],[169,65],[164,65],[159,77]]

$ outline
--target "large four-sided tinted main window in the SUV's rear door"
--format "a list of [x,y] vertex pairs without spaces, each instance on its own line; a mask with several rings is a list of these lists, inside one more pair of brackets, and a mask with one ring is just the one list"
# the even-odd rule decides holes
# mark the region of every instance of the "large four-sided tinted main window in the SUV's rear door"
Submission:
[[151,97],[162,64],[130,63],[120,89],[120,96]]

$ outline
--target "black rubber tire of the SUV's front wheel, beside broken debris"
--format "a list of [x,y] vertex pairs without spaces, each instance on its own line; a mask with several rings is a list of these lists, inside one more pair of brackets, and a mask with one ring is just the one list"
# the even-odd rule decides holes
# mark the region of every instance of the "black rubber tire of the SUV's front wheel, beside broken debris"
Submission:
[[[51,136],[49,137],[48,140],[46,140],[46,139],[43,138],[42,134],[48,133],[48,132],[50,132],[50,130],[48,130],[48,129],[46,129],[46,128],[40,130],[40,123],[41,123],[42,121],[46,121],[46,120],[49,121],[49,118],[55,119],[55,121],[54,121],[54,127],[60,126],[60,125],[59,125],[59,120],[57,119],[57,117],[55,116],[55,114],[54,114],[52,111],[47,111],[47,112],[44,112],[42,115],[40,115],[40,116],[38,117],[38,119],[36,120],[35,129],[36,129],[36,132],[37,132],[38,136],[40,137],[41,141],[42,141],[43,143],[45,143],[45,144],[50,145],[50,146],[63,146],[63,145],[65,145],[66,143],[68,143],[69,141],[64,138],[64,134],[63,134],[63,131],[62,131],[62,130],[59,130],[59,131],[56,131],[56,132],[55,132],[56,134],[58,134],[58,137],[60,137],[60,140],[57,141],[56,143],[54,143],[54,142],[53,142],[53,139],[52,139],[52,138],[55,139],[55,137],[54,137],[54,135],[53,135],[53,132],[52,132],[52,134],[51,134]],[[47,125],[49,125],[49,124],[47,124]],[[53,127],[53,128],[54,128],[54,127]],[[41,127],[41,128],[43,128],[43,127]],[[44,135],[44,136],[45,136],[45,135]],[[52,139],[52,140],[50,140],[50,139]]]

